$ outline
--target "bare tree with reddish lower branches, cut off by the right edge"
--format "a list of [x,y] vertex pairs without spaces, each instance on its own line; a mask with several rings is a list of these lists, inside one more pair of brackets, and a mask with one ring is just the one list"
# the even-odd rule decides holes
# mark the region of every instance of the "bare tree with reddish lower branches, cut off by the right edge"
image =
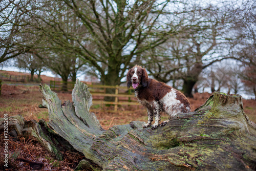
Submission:
[[244,6],[238,13],[240,20],[236,23],[236,31],[240,42],[234,57],[242,62],[244,67],[240,77],[248,94],[254,94],[256,98],[256,2],[244,1]]

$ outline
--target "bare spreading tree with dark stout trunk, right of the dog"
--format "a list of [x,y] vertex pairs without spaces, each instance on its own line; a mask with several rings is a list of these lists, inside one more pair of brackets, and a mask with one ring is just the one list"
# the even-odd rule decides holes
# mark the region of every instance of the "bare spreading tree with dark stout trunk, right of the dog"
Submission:
[[230,51],[237,43],[231,35],[233,4],[191,3],[184,4],[176,17],[183,30],[145,55],[150,56],[151,75],[163,82],[182,79],[182,91],[190,97],[200,73],[215,62],[232,58]]

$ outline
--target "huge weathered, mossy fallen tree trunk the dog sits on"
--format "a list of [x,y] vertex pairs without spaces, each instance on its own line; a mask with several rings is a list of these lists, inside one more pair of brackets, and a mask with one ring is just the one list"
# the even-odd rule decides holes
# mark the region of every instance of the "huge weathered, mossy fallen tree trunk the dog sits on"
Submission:
[[86,170],[255,170],[256,125],[243,111],[240,95],[215,92],[195,112],[180,113],[156,130],[133,121],[103,130],[89,109],[92,95],[76,81],[73,103],[61,105],[40,85],[54,132],[86,160]]

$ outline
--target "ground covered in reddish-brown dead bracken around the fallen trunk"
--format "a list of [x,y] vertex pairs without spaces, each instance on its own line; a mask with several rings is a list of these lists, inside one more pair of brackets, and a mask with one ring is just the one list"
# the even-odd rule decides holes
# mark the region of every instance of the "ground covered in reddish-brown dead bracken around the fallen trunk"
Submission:
[[[66,100],[72,101],[71,93],[57,92],[59,99],[63,102]],[[210,96],[208,93],[195,94],[194,98],[189,98],[192,111],[201,106]],[[14,116],[20,114],[26,120],[34,119],[39,121],[44,119],[48,121],[48,110],[38,108],[41,104],[42,96],[39,92],[39,86],[9,86],[3,84],[2,95],[0,97],[0,117],[4,114]],[[243,100],[244,111],[246,115],[256,122],[256,100]],[[93,105],[93,109],[100,124],[104,129],[118,124],[129,124],[131,121],[140,120],[146,121],[146,110],[141,106],[119,106],[117,113],[107,113],[105,111],[113,110],[113,106],[99,106]],[[130,112],[127,112],[130,111]],[[167,119],[163,115],[162,120]],[[54,159],[39,142],[33,138],[24,139],[18,137],[12,140],[9,137],[9,163],[10,167],[6,170],[33,170],[35,166],[31,166],[30,162],[41,163],[42,166],[39,170],[74,170],[76,165],[84,157],[79,153],[63,152],[64,159],[58,161]],[[3,134],[0,135],[0,143],[3,144]],[[3,166],[3,151],[4,147],[1,146],[0,153],[0,170],[4,169]]]

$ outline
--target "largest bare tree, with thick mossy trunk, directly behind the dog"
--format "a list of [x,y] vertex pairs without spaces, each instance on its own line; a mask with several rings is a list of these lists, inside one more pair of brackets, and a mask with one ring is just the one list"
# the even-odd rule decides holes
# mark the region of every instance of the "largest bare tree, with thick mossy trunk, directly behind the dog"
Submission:
[[[44,1],[37,4],[44,8],[36,13],[36,35],[48,41],[54,39],[55,44],[45,49],[72,51],[97,70],[103,84],[116,85],[142,52],[163,44],[176,34],[166,25],[164,10],[167,11],[169,3]],[[58,15],[70,20],[61,23]],[[77,26],[75,31],[63,27],[64,24],[71,26],[70,23]]]

